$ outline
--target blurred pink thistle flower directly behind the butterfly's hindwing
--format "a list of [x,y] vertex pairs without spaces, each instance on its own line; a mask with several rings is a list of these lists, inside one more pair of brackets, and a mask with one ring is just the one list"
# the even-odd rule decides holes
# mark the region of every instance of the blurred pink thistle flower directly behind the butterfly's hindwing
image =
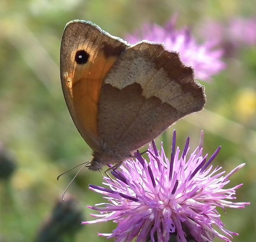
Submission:
[[217,42],[209,41],[202,45],[197,44],[190,29],[175,29],[175,19],[171,19],[165,27],[146,24],[141,31],[126,36],[126,40],[131,44],[142,39],[163,42],[170,51],[179,52],[182,61],[194,68],[196,78],[200,80],[211,80],[212,75],[218,74],[226,66],[220,59],[223,50],[214,49]]

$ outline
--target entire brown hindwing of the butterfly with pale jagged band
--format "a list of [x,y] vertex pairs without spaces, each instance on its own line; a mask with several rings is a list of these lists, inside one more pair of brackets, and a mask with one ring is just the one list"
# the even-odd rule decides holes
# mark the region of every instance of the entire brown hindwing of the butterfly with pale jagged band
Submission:
[[141,42],[120,56],[104,81],[100,134],[108,148],[132,151],[204,103],[203,87],[177,53]]

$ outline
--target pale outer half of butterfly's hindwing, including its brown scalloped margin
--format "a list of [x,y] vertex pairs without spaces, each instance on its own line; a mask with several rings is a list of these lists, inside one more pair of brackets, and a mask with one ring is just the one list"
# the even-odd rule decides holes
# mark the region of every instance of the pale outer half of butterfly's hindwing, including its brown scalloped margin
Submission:
[[105,83],[118,89],[138,83],[143,96],[157,96],[183,113],[201,110],[205,103],[203,87],[195,82],[192,68],[181,63],[177,53],[147,41],[129,47],[109,72]]

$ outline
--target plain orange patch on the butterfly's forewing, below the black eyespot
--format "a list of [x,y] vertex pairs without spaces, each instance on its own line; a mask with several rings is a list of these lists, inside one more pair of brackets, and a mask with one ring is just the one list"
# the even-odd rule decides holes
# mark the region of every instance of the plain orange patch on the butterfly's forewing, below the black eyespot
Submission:
[[[90,52],[89,52],[90,53]],[[99,138],[97,128],[100,90],[117,57],[106,58],[102,52],[85,65],[76,65],[72,80],[73,108],[81,132]]]

